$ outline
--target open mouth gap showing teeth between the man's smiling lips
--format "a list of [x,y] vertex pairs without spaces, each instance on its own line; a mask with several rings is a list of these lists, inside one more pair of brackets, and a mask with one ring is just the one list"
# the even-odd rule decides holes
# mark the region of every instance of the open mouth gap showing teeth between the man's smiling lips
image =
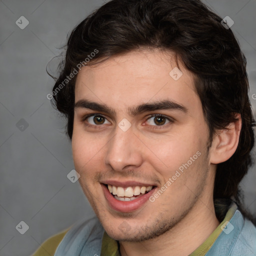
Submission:
[[108,191],[113,195],[113,197],[119,201],[132,201],[144,194],[148,193],[154,188],[154,186],[114,186],[110,184],[104,184]]

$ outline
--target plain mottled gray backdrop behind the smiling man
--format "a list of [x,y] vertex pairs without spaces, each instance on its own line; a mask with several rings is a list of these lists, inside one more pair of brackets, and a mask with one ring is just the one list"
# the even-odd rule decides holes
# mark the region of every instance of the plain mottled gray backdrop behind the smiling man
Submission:
[[[234,20],[232,30],[247,57],[250,98],[256,100],[256,0],[205,1],[222,18]],[[66,35],[103,0],[0,1],[0,255],[31,254],[47,237],[92,216],[73,169],[65,120],[46,94],[53,80],[47,63],[66,42]],[[29,24],[20,29],[21,16]],[[25,126],[23,118],[28,126]],[[19,125],[16,123],[19,121]],[[20,126],[24,125],[24,127]],[[20,129],[24,129],[23,131]],[[245,202],[256,213],[256,167],[243,179]],[[22,235],[15,226],[25,221]]]

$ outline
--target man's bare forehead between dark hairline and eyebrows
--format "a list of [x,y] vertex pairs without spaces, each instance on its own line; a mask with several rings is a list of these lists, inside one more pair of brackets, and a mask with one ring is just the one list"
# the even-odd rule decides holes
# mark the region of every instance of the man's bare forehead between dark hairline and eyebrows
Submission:
[[158,49],[131,51],[82,67],[76,78],[75,102],[81,99],[119,109],[163,99],[187,108],[200,105],[194,75],[176,61],[173,52]]

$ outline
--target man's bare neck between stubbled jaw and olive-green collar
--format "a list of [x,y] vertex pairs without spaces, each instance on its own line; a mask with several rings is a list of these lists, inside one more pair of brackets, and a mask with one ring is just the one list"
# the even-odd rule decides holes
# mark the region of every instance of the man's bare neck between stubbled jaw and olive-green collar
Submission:
[[189,255],[219,225],[213,200],[198,199],[193,208],[164,234],[142,242],[119,242],[121,256]]

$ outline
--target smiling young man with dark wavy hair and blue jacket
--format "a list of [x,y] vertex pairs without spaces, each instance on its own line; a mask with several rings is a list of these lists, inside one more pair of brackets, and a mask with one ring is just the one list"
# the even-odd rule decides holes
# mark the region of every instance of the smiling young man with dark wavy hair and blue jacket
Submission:
[[238,193],[254,143],[245,66],[199,0],[112,0],[84,19],[52,96],[97,217],[34,255],[256,255]]

